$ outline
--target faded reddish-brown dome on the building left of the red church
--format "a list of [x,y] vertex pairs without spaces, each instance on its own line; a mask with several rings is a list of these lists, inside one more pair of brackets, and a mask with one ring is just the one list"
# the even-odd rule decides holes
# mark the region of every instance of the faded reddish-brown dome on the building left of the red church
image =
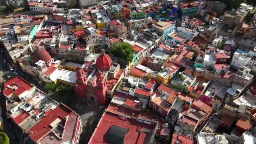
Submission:
[[39,49],[33,54],[33,62],[38,62],[39,60],[42,60],[44,62],[49,62],[51,60],[51,56],[45,49]]

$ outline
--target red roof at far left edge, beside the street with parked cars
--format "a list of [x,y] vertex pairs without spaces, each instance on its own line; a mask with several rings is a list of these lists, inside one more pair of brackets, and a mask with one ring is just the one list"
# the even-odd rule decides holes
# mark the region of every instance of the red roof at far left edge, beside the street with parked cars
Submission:
[[[7,88],[7,85],[10,85],[10,88]],[[14,89],[14,86],[17,88]],[[20,95],[23,92],[30,90],[30,88],[33,88],[33,85],[22,79],[20,76],[16,76],[13,79],[4,82],[3,94],[8,96],[14,92],[16,95]]]

